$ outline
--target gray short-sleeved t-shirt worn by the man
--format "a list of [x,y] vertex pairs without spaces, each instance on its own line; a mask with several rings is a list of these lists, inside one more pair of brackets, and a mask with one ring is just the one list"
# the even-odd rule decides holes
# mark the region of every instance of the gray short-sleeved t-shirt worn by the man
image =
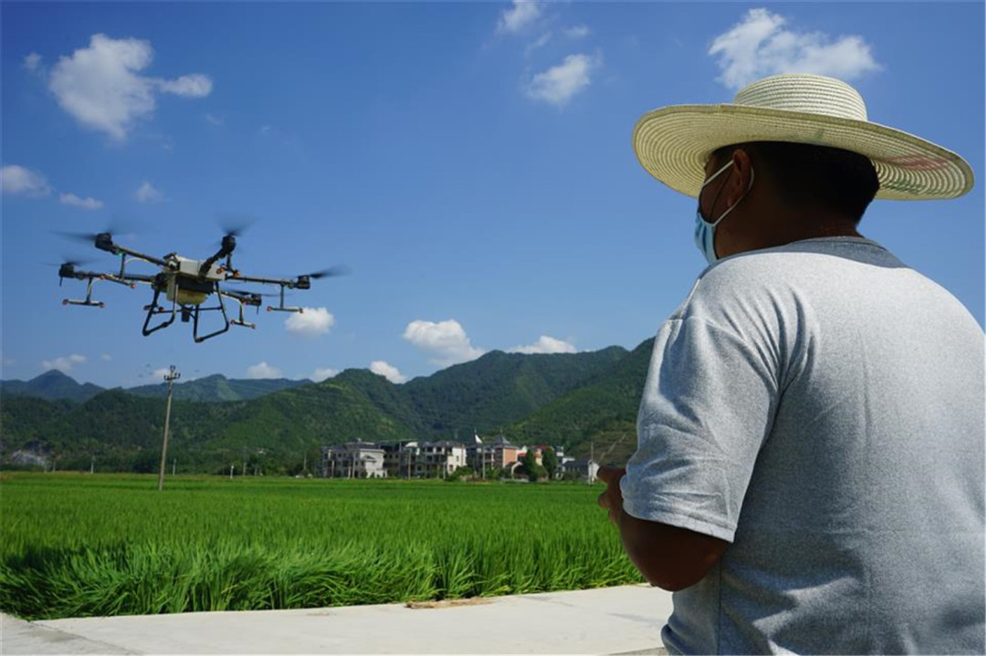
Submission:
[[680,653],[984,652],[984,341],[863,238],[707,269],[661,327],[626,511],[732,543]]

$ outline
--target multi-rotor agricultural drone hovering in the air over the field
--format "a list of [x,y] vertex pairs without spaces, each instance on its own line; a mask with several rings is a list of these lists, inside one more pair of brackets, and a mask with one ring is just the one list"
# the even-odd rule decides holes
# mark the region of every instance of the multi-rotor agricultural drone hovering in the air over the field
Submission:
[[[65,278],[73,278],[75,280],[87,281],[87,287],[85,298],[64,298],[62,304],[105,307],[106,303],[102,300],[93,300],[92,297],[93,286],[102,281],[124,285],[130,289],[136,289],[137,285],[149,285],[154,291],[154,297],[151,298],[150,304],[144,306],[144,310],[147,311],[143,327],[145,337],[172,325],[178,316],[180,316],[182,323],[191,322],[192,338],[195,342],[204,342],[211,337],[222,335],[230,329],[231,325],[256,328],[256,324],[249,323],[244,318],[244,308],[246,306],[255,307],[256,311],[259,312],[263,296],[278,294],[260,294],[257,292],[246,292],[220,287],[227,283],[255,283],[258,285],[279,286],[279,303],[276,306],[267,305],[267,311],[304,312],[305,310],[302,307],[285,306],[285,290],[309,290],[312,288],[313,280],[348,273],[346,267],[338,266],[298,276],[297,278],[282,279],[245,276],[233,267],[233,251],[237,247],[239,230],[228,230],[223,237],[219,250],[204,260],[191,260],[181,257],[176,253],[168,253],[164,257],[154,257],[153,255],[140,253],[114,243],[113,235],[109,231],[95,234],[62,234],[85,241],[92,241],[98,249],[120,258],[119,271],[114,273],[83,271],[78,268],[83,264],[81,262],[63,262],[58,268],[59,286],[61,286],[61,282]],[[161,268],[161,271],[156,274],[128,272],[127,265],[135,261],[156,265]],[[166,300],[163,303],[159,303],[162,295],[165,296]],[[213,295],[216,304],[207,305],[206,301]],[[237,303],[239,310],[237,318],[229,317],[226,312],[226,302],[224,299]],[[206,311],[220,312],[223,317],[222,327],[206,335],[199,335],[199,314]],[[162,317],[156,325],[152,326],[151,322],[154,320],[154,317],[162,314],[166,316]]]

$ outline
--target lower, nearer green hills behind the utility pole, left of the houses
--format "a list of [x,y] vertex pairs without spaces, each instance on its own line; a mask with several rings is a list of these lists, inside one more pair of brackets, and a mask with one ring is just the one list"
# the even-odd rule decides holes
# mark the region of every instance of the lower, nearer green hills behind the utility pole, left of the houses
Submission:
[[[316,389],[311,389],[316,388]],[[303,396],[299,393],[305,390]],[[58,460],[58,469],[157,471],[164,434],[165,400],[109,390],[71,406],[30,397],[5,400],[2,456],[27,450]],[[287,471],[326,443],[411,432],[345,385],[319,384],[252,401],[173,403],[169,453],[182,471],[216,472],[262,452],[274,471]]]

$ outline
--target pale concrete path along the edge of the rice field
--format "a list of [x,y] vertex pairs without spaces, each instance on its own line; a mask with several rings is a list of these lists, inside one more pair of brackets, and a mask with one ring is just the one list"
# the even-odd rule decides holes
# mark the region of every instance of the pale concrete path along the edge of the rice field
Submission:
[[647,585],[402,604],[24,622],[0,654],[665,654],[670,593]]

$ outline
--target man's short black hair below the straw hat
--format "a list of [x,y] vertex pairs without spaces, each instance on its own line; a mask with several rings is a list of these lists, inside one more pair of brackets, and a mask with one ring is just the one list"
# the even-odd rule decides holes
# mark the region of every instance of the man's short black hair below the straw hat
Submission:
[[840,148],[757,141],[725,146],[713,153],[724,163],[733,151],[747,151],[754,165],[765,166],[786,205],[816,207],[859,223],[880,190],[877,168],[869,158]]

